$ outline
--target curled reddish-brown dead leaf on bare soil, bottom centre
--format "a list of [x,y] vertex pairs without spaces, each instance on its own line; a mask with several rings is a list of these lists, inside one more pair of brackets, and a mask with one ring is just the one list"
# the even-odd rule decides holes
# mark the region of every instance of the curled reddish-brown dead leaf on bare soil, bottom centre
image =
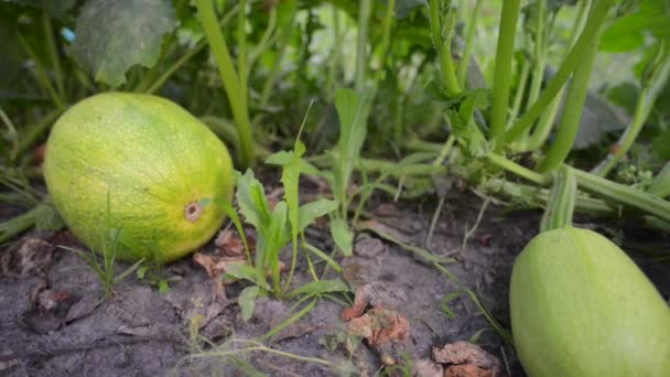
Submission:
[[374,346],[404,341],[410,332],[410,324],[400,313],[377,306],[347,322],[347,332],[367,338]]

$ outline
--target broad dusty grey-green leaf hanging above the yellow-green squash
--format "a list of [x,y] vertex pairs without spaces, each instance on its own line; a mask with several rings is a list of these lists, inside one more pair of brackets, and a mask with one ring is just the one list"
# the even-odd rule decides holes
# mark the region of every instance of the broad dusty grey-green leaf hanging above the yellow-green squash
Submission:
[[88,0],[77,18],[73,53],[97,82],[119,86],[133,65],[156,63],[163,35],[175,24],[169,0]]

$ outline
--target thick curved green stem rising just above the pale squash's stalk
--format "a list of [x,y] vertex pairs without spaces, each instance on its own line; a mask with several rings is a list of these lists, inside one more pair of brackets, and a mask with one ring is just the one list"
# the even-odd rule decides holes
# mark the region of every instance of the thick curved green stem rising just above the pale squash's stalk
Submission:
[[558,168],[565,161],[565,158],[572,150],[574,138],[577,136],[580,129],[584,100],[588,93],[591,71],[597,53],[597,41],[598,39],[596,37],[591,47],[586,51],[584,61],[574,72],[570,89],[568,90],[568,98],[565,99],[565,107],[563,116],[561,117],[556,138],[549,148],[544,160],[540,162],[538,166],[539,172],[543,173]]

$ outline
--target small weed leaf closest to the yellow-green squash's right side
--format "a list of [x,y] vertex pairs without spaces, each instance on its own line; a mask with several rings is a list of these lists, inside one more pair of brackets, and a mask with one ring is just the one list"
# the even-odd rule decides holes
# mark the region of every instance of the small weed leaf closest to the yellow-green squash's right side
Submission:
[[249,169],[237,179],[237,192],[235,194],[239,211],[247,223],[261,231],[270,222],[270,206],[266,198],[263,185],[253,176]]

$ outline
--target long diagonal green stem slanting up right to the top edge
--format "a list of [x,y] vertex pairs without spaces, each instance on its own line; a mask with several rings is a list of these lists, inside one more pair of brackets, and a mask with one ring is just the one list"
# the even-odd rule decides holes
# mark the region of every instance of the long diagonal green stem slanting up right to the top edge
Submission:
[[597,1],[593,8],[593,11],[588,15],[584,31],[559,67],[556,74],[549,82],[549,84],[547,84],[547,87],[540,97],[538,97],[538,100],[532,104],[526,114],[519,120],[517,120],[515,126],[505,134],[508,142],[516,140],[526,131],[527,128],[532,126],[536,119],[542,115],[547,106],[556,96],[561,87],[563,87],[570,74],[582,64],[583,55],[591,49],[592,43],[596,40],[601,26],[605,22],[607,13],[613,4],[614,0]]

